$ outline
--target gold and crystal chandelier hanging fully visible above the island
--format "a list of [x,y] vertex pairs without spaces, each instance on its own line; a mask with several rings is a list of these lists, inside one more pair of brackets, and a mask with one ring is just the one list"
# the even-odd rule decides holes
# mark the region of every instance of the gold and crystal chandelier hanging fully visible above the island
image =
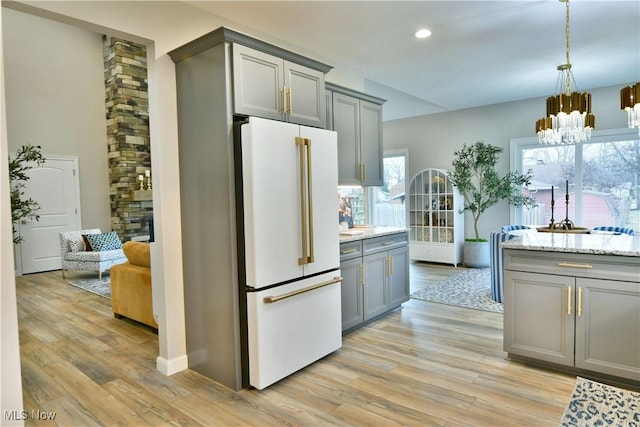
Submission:
[[547,98],[547,115],[536,122],[536,133],[541,144],[575,144],[588,141],[596,122],[595,116],[591,114],[591,94],[571,92],[571,82],[575,82],[575,77],[569,61],[569,0],[559,1],[567,4],[567,63],[558,65],[556,92],[560,93]]

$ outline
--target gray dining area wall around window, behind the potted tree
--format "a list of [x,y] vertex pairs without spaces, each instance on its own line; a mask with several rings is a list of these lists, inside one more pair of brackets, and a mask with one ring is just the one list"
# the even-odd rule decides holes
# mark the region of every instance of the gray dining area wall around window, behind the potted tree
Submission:
[[[621,88],[589,90],[596,116],[596,132],[598,129],[627,126],[627,114],[620,110]],[[510,139],[534,137],[535,121],[544,116],[545,108],[545,99],[538,98],[387,121],[384,122],[384,148],[409,149],[407,176],[413,178],[426,168],[450,169],[454,151],[465,143],[482,140],[504,149],[498,167],[506,173],[510,162]],[[480,237],[488,238],[490,231],[509,222],[508,204],[498,203],[480,218]],[[465,215],[465,237],[473,237],[469,213]]]

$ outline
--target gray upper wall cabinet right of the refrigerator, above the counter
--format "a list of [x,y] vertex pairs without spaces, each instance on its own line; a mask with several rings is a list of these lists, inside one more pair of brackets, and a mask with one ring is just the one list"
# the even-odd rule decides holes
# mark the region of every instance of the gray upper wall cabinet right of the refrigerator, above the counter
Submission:
[[329,83],[326,86],[332,94],[332,116],[327,128],[338,133],[338,183],[382,186],[382,104],[385,101]]

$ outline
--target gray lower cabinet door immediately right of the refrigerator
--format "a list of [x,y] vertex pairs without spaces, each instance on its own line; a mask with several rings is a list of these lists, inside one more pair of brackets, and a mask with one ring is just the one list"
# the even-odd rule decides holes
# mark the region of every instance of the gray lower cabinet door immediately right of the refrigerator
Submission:
[[340,263],[342,272],[342,331],[364,321],[362,300],[362,258]]

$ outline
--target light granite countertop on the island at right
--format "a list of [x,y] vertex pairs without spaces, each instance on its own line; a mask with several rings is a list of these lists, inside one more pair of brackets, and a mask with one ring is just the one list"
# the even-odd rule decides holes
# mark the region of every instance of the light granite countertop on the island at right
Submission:
[[640,235],[524,233],[500,244],[505,249],[640,257]]

